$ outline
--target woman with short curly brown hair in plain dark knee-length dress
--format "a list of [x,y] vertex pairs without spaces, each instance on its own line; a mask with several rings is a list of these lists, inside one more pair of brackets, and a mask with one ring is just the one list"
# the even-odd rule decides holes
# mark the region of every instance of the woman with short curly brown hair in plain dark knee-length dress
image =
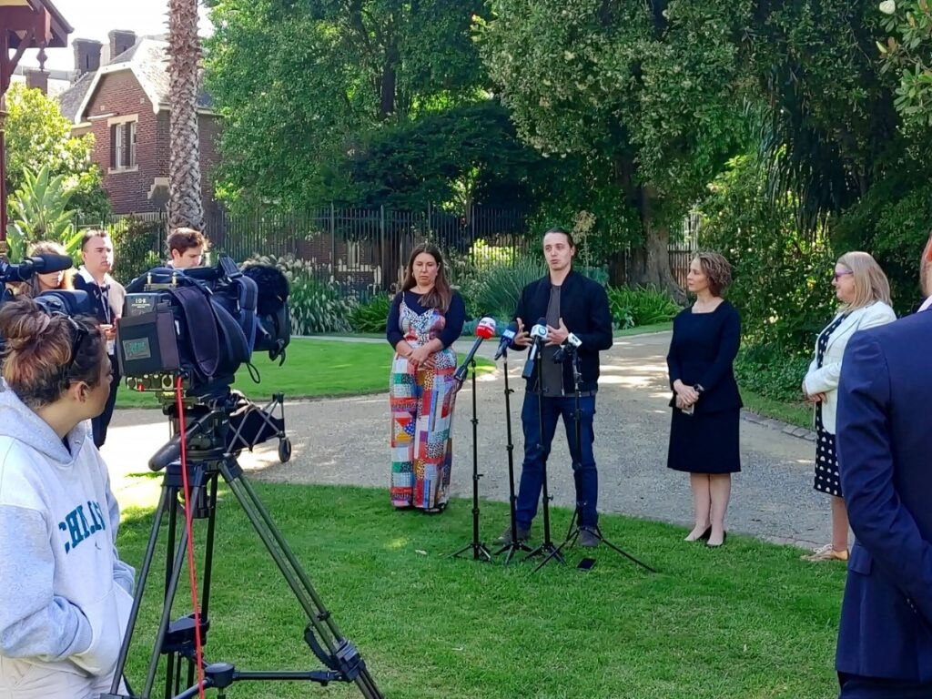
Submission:
[[741,471],[738,424],[741,395],[734,357],[741,342],[738,311],[721,297],[732,267],[717,253],[699,253],[686,285],[696,296],[673,321],[666,364],[673,389],[673,418],[666,465],[690,474],[695,522],[686,541],[725,541],[725,512],[732,473]]

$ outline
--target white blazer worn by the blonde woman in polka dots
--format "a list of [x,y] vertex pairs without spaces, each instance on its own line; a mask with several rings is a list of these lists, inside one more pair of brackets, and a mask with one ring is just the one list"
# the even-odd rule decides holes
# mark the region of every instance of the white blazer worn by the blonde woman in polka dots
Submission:
[[[835,316],[832,322],[837,319],[838,316]],[[829,337],[829,346],[825,350],[825,356],[822,357],[821,367],[818,367],[816,363],[816,356],[818,355],[818,339],[816,338],[816,354],[813,356],[812,363],[809,364],[809,371],[806,372],[802,385],[809,395],[825,393],[825,403],[822,404],[822,426],[827,432],[835,433],[835,412],[838,409],[838,381],[842,375],[842,357],[844,356],[844,348],[848,346],[848,340],[858,330],[866,330],[896,320],[897,314],[893,312],[893,308],[887,306],[883,301],[875,301],[870,306],[851,311]],[[819,335],[822,334],[819,333]]]

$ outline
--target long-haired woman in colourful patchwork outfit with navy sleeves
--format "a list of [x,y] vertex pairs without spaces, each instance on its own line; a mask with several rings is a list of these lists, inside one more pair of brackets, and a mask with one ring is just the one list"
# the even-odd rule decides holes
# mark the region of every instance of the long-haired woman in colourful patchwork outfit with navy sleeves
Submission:
[[411,253],[402,291],[391,302],[391,504],[441,512],[449,498],[450,427],[459,389],[453,378],[466,307],[446,281],[444,259],[430,243]]

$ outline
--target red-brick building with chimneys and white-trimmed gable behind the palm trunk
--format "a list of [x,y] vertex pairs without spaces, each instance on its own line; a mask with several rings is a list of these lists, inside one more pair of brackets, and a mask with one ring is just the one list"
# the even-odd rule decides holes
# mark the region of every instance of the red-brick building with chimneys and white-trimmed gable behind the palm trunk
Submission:
[[[75,39],[77,78],[59,95],[75,134],[93,133],[93,158],[115,213],[162,211],[169,184],[168,42],[114,31],[109,44]],[[112,57],[112,58],[111,58]],[[103,61],[102,61],[103,58]],[[216,211],[212,167],[220,117],[210,97],[198,96],[204,216]]]

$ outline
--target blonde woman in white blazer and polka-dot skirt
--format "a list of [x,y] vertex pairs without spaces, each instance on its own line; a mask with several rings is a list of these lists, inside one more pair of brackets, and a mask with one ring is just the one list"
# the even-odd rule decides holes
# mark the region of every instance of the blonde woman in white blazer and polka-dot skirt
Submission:
[[808,561],[848,559],[848,512],[835,456],[835,412],[844,348],[858,330],[897,320],[890,308],[890,282],[867,253],[843,254],[832,281],[842,302],[838,315],[819,333],[816,352],[802,381],[802,391],[816,405],[816,480],[813,487],[831,496],[831,542],[802,558]]

